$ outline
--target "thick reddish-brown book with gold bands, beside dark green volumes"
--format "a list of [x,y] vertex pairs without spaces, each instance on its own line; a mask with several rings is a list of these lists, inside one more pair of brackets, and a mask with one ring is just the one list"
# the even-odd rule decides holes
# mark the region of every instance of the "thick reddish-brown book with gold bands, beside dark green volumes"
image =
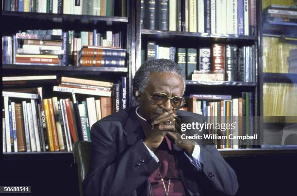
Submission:
[[212,70],[214,72],[222,72],[225,70],[225,45],[213,44],[212,45]]

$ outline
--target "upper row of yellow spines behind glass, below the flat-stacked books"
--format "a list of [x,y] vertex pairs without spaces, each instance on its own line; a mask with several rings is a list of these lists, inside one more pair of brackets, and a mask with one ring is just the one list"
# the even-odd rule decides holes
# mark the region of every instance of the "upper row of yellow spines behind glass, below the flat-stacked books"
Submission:
[[263,72],[288,73],[287,58],[290,50],[297,49],[297,45],[287,43],[277,37],[263,37]]

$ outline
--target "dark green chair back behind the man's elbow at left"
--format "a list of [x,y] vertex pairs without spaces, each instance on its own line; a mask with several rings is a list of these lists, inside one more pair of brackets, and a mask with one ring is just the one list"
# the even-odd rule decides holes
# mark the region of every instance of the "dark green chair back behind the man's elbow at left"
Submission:
[[89,163],[91,159],[91,142],[77,141],[73,148],[74,160],[77,163],[80,196],[82,195],[82,180],[89,170]]

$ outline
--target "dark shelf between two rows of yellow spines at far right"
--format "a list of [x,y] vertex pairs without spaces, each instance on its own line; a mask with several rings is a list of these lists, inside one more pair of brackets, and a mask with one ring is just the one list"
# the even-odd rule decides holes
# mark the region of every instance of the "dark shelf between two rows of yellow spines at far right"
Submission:
[[269,83],[297,83],[297,74],[263,73],[264,82]]

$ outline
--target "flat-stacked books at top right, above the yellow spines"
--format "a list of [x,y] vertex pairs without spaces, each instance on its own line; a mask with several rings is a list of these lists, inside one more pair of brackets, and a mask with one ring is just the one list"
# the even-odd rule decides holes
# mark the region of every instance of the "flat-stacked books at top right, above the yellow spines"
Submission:
[[272,4],[263,10],[263,20],[272,25],[297,26],[297,6]]

